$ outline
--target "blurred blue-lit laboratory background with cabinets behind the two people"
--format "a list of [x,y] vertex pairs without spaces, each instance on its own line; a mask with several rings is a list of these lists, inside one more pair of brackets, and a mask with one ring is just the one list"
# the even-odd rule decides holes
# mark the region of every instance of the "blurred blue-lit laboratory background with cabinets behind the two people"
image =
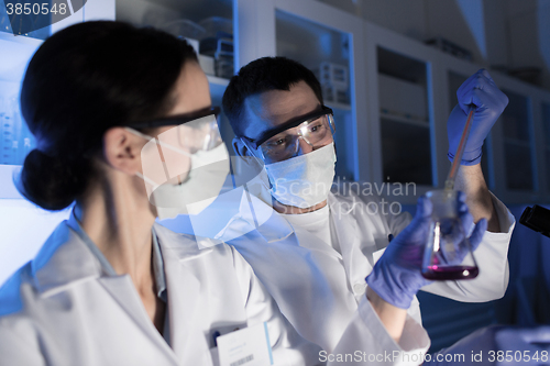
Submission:
[[[0,284],[68,215],[35,208],[13,186],[35,143],[19,110],[25,66],[52,33],[97,19],[155,26],[189,40],[215,104],[221,104],[235,70],[257,57],[301,62],[316,73],[326,104],[334,110],[337,180],[392,187],[384,193],[410,212],[419,195],[442,187],[449,170],[446,122],[455,91],[485,67],[510,100],[484,144],[487,184],[516,220],[527,206],[550,204],[550,0],[67,3],[66,14],[51,14],[48,21],[8,16],[0,7]],[[220,129],[231,142],[227,120]],[[393,189],[399,185],[402,190]],[[459,303],[420,293],[431,351],[492,323],[549,323],[549,240],[516,224],[503,299]]]

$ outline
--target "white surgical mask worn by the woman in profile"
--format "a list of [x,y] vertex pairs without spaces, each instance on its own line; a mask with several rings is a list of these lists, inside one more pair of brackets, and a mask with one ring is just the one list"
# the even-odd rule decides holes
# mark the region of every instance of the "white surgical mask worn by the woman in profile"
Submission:
[[154,138],[128,130],[148,140],[141,151],[143,174],[136,175],[145,181],[148,200],[156,207],[160,220],[198,214],[216,200],[230,171],[226,144],[190,154],[165,142],[166,132]]

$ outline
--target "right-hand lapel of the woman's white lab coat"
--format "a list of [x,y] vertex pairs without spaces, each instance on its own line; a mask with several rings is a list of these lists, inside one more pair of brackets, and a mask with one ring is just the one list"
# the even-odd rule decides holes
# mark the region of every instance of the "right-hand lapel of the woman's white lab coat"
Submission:
[[185,240],[162,225],[155,225],[161,245],[168,293],[168,311],[172,348],[178,359],[193,365],[211,364],[209,345],[201,324],[208,322],[200,312],[200,282],[187,267],[187,260],[207,254],[209,248],[199,249],[196,243],[186,245]]

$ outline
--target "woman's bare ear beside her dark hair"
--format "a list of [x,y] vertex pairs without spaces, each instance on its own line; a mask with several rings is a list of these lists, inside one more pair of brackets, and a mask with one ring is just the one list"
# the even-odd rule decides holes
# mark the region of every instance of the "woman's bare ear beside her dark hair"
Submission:
[[110,166],[135,175],[141,171],[141,149],[146,141],[124,127],[112,127],[103,134],[103,156]]

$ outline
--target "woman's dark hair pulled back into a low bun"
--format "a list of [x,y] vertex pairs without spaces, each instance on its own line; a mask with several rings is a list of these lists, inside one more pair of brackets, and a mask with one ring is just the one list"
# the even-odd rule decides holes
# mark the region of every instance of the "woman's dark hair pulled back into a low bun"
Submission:
[[21,89],[21,111],[37,141],[18,181],[21,193],[46,210],[80,197],[105,132],[172,108],[187,60],[197,56],[185,41],[121,22],[79,23],[47,38]]

